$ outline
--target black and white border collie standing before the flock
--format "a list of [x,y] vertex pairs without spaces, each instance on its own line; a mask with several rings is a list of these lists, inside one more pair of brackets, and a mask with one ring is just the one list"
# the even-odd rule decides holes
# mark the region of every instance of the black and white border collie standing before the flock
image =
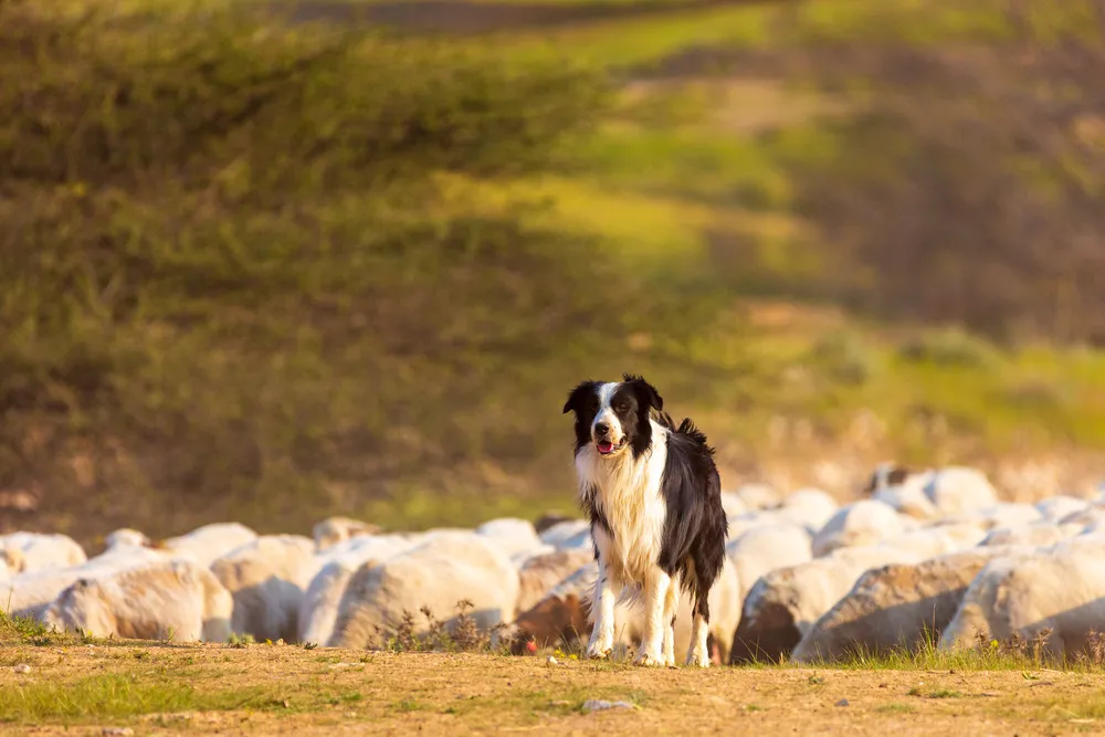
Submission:
[[613,650],[614,604],[643,596],[638,664],[675,665],[680,589],[694,598],[687,664],[709,665],[707,599],[725,564],[728,522],[714,450],[690,419],[676,428],[641,377],[585,381],[564,406],[576,413],[576,472],[591,523],[599,578],[589,657]]

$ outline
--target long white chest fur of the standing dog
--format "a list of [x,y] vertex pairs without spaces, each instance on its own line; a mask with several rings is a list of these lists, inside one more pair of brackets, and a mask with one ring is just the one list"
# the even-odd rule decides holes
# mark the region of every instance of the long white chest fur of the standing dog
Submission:
[[609,530],[594,525],[599,556],[622,585],[643,586],[655,570],[667,506],[661,493],[667,460],[667,429],[652,422],[652,445],[639,459],[628,449],[602,457],[593,444],[576,456],[580,494],[593,495],[594,510]]

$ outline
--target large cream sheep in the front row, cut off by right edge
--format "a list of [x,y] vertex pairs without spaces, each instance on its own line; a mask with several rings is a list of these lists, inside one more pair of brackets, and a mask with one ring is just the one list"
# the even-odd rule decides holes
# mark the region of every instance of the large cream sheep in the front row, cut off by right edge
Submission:
[[1042,639],[1055,657],[1073,657],[1105,621],[1105,537],[1084,535],[1048,548],[992,559],[975,577],[940,636],[941,650],[979,639]]

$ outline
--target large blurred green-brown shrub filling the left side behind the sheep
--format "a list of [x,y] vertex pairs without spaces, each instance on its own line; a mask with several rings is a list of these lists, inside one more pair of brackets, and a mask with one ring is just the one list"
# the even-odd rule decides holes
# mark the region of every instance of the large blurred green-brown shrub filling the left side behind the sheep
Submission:
[[473,181],[570,164],[604,78],[190,13],[0,3],[0,487],[286,529],[548,457],[644,285]]

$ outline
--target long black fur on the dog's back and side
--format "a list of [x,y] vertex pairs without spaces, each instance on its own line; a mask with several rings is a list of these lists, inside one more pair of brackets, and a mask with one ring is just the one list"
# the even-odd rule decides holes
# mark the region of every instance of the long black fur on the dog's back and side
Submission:
[[695,598],[695,610],[708,622],[707,599],[725,565],[729,531],[714,449],[690,418],[675,427],[671,415],[657,412],[656,421],[670,431],[661,481],[667,517],[657,564],[669,576],[680,575],[683,589]]

